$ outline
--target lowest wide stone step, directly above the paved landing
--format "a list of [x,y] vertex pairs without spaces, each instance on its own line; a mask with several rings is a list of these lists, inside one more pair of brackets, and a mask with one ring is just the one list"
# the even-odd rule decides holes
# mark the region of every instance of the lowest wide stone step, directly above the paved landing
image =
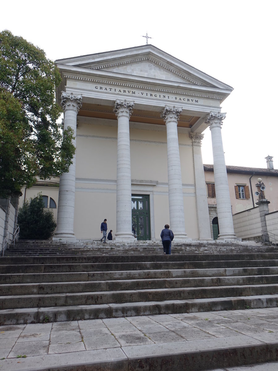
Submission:
[[232,296],[188,300],[110,303],[102,305],[53,306],[0,310],[1,325],[77,321],[169,313],[209,312],[236,309],[273,308],[278,295]]

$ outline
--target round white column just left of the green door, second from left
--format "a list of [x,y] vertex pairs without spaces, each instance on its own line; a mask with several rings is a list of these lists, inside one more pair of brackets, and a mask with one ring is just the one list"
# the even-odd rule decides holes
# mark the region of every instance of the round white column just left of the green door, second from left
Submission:
[[118,119],[117,146],[117,190],[116,190],[116,241],[135,241],[131,221],[131,167],[129,118],[134,102],[115,103],[114,112]]

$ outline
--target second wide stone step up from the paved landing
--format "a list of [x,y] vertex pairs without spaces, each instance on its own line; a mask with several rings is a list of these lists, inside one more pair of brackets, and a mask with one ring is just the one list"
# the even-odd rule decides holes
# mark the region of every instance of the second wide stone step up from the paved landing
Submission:
[[1,309],[273,295],[278,284],[0,296]]

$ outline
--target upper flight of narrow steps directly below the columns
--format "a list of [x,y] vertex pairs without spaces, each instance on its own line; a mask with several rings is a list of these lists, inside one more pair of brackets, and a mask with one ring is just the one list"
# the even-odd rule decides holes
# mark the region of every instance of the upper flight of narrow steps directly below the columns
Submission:
[[[135,243],[117,243],[99,240],[56,242],[50,240],[17,240],[14,247],[5,250],[4,256],[53,256],[53,255],[159,255],[163,251],[160,241],[137,241]],[[172,254],[223,252],[278,252],[278,247],[270,242],[215,242],[189,241],[172,242]]]

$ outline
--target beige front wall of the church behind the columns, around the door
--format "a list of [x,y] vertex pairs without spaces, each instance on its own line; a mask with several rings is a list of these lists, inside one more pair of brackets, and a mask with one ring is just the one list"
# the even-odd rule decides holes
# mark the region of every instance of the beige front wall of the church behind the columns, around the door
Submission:
[[[178,135],[186,232],[198,238],[191,139],[184,130]],[[116,232],[117,136],[116,120],[79,118],[74,221],[78,239],[100,238],[104,218],[108,229]],[[150,195],[152,239],[160,239],[169,223],[166,127],[130,121],[130,161],[132,194]]]

